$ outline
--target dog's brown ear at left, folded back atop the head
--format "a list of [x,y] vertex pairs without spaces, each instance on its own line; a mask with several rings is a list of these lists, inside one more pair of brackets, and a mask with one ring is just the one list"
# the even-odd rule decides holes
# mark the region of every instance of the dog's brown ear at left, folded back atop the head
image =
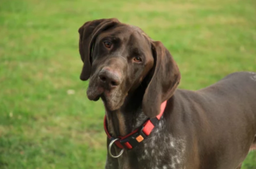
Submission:
[[95,39],[100,34],[100,32],[120,23],[116,18],[111,19],[99,19],[86,22],[78,30],[80,34],[79,38],[79,53],[81,59],[84,62],[80,79],[86,81],[91,76],[91,54],[92,47]]

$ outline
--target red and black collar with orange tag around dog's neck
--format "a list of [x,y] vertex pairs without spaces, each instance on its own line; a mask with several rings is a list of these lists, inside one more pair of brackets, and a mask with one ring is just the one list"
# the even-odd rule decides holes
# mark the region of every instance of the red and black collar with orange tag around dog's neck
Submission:
[[[142,142],[144,139],[146,139],[156,126],[156,123],[160,120],[161,116],[163,115],[166,102],[167,101],[164,101],[161,104],[160,114],[157,115],[155,118],[149,118],[140,128],[132,131],[130,134],[124,137],[118,137],[120,139],[115,142],[116,146],[121,149],[132,149],[133,147],[137,146],[140,142]],[[116,139],[112,137],[108,132],[106,115],[104,117],[104,129],[110,141]]]

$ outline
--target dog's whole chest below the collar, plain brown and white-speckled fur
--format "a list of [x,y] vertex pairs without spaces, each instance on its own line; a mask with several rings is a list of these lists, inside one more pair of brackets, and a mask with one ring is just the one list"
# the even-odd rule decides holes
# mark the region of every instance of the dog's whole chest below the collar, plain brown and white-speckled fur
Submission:
[[147,139],[124,152],[116,169],[185,169],[185,149],[185,139],[165,132],[160,121]]

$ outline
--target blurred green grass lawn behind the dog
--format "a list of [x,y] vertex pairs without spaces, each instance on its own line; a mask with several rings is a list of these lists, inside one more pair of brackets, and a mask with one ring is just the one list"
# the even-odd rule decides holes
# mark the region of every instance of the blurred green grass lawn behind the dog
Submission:
[[[160,40],[180,88],[256,71],[255,0],[1,0],[0,168],[103,168],[102,102],[86,98],[78,28],[116,17]],[[69,95],[68,90],[75,93]],[[251,152],[243,169],[256,168]]]

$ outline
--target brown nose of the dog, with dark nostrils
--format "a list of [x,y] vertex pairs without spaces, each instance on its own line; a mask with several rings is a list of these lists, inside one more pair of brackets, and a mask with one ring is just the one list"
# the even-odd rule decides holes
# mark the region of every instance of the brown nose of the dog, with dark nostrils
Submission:
[[116,87],[121,83],[120,74],[108,67],[101,69],[99,78],[102,84],[107,85],[110,88]]

